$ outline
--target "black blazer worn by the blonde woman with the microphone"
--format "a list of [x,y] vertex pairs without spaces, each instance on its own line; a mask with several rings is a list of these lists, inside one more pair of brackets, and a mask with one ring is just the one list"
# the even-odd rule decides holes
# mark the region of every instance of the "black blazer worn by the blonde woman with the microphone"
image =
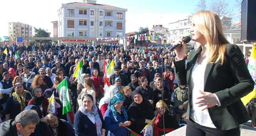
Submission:
[[[185,59],[174,61],[178,82],[182,85],[188,83],[187,118],[192,99],[191,73],[201,50],[198,48],[189,53],[186,66]],[[234,129],[250,119],[240,98],[251,92],[253,87],[254,81],[246,67],[243,53],[237,45],[227,44],[224,63],[209,63],[204,73],[204,91],[216,94],[221,104],[220,107],[215,105],[208,108],[210,118],[218,129]]]

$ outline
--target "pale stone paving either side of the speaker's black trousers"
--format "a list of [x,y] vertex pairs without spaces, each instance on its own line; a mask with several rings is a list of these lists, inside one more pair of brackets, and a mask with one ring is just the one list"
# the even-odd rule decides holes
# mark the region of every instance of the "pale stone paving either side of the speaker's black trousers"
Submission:
[[[246,124],[251,124],[251,121],[248,121]],[[166,136],[186,136],[186,126],[167,133]],[[241,136],[256,136],[256,128],[243,126],[241,129]]]

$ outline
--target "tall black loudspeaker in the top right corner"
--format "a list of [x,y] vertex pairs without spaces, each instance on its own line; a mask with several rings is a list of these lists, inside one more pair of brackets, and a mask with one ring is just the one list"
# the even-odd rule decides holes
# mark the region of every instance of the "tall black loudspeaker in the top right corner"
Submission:
[[255,42],[256,0],[243,0],[241,9],[241,42]]

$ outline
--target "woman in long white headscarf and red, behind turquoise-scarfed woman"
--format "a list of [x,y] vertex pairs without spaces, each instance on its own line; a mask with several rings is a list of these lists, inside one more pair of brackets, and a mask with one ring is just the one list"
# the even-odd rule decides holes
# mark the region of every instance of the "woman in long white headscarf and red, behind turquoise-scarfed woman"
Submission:
[[108,104],[110,103],[110,99],[115,95],[118,94],[119,90],[116,86],[111,85],[107,92],[105,92],[104,97],[99,101],[99,109],[101,109],[101,113],[104,117],[105,112],[108,110]]

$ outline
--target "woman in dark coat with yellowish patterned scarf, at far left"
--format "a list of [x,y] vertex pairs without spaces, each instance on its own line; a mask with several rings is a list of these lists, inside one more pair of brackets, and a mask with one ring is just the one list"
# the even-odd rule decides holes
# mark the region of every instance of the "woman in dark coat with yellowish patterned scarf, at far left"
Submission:
[[28,102],[32,98],[30,92],[24,90],[22,83],[15,83],[15,92],[8,98],[6,103],[6,120],[14,119],[24,108],[28,105]]

